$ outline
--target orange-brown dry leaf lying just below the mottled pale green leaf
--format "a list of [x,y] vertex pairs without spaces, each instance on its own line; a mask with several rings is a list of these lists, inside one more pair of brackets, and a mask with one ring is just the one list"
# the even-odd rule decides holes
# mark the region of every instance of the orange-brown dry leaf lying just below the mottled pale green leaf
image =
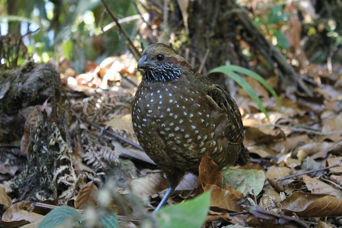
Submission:
[[237,204],[237,202],[244,198],[244,194],[232,189],[229,185],[226,188],[227,190],[221,189],[216,185],[206,185],[203,190],[204,192],[211,190],[210,206],[241,213],[243,207]]

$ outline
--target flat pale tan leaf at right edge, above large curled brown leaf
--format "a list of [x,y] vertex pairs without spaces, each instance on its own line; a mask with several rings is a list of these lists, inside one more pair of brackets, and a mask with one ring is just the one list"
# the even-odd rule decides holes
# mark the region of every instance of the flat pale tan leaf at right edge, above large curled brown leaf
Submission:
[[340,198],[342,197],[341,191],[339,189],[333,188],[332,186],[316,178],[311,178],[310,176],[303,175],[303,181],[306,183],[306,187],[311,191],[311,193],[329,194]]

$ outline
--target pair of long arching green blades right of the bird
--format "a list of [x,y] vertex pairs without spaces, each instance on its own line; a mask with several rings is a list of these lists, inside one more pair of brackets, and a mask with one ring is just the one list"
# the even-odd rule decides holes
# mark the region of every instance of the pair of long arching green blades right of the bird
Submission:
[[257,80],[258,82],[260,82],[275,97],[278,106],[279,107],[281,106],[279,97],[277,96],[276,92],[272,89],[271,85],[269,85],[266,82],[266,80],[263,79],[257,73],[255,73],[249,69],[246,69],[244,67],[237,66],[237,65],[215,67],[214,69],[210,70],[208,72],[208,74],[214,73],[214,72],[224,73],[225,75],[228,75],[229,77],[231,77],[236,83],[238,83],[242,87],[242,89],[244,89],[248,93],[248,95],[252,98],[252,100],[258,105],[260,111],[265,113],[268,121],[269,121],[269,118],[268,118],[267,111],[266,111],[265,107],[262,105],[260,98],[254,92],[253,88],[237,73],[242,73],[244,75],[250,76],[250,77],[254,78],[255,80]]

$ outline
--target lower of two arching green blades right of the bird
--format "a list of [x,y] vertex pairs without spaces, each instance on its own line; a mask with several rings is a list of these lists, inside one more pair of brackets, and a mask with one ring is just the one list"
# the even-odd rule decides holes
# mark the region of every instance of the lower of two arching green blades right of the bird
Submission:
[[252,100],[258,105],[260,111],[265,113],[266,118],[269,121],[267,111],[265,107],[262,105],[262,102],[260,98],[258,97],[258,95],[254,92],[253,88],[240,75],[238,75],[231,69],[231,66],[232,65],[215,67],[214,69],[210,70],[208,74],[213,73],[213,72],[221,72],[231,77],[236,83],[238,83],[242,87],[242,89],[244,89],[248,93],[248,95],[252,98]]

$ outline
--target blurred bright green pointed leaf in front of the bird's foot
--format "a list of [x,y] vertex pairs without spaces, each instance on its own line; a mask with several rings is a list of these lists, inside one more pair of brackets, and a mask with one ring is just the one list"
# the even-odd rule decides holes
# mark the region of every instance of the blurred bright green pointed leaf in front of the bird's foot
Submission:
[[163,207],[154,216],[159,228],[199,228],[208,215],[210,193],[206,192],[184,203]]

